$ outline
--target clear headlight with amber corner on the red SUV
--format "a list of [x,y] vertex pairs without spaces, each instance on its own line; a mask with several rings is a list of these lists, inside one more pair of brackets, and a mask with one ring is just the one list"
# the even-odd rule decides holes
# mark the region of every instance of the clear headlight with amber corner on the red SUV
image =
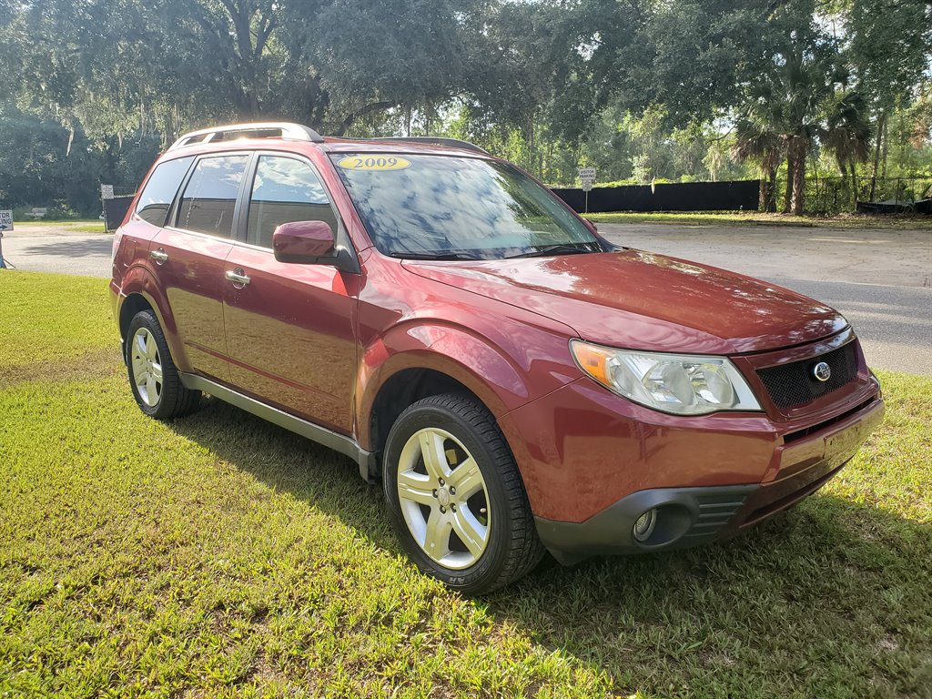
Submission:
[[719,410],[761,410],[754,393],[727,357],[612,349],[570,340],[579,367],[635,403],[674,415]]

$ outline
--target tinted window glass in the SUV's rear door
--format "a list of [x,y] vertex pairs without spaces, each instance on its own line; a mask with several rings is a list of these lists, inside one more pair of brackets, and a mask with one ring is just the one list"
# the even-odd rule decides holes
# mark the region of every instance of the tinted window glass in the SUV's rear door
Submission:
[[249,156],[200,158],[178,207],[178,227],[229,238]]

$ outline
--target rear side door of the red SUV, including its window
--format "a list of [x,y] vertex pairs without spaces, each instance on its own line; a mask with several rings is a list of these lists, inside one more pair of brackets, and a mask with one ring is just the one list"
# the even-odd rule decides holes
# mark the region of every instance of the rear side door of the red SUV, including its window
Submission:
[[149,245],[187,365],[225,383],[230,375],[223,317],[224,260],[232,248],[240,187],[250,159],[248,153],[198,158],[168,225]]

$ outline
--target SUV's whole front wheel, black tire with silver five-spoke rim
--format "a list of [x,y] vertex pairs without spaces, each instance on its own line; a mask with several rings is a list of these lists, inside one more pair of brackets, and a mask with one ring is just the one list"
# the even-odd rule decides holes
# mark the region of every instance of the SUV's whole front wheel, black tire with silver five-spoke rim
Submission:
[[448,587],[490,592],[540,562],[511,450],[473,399],[446,393],[408,407],[389,432],[382,476],[404,549]]

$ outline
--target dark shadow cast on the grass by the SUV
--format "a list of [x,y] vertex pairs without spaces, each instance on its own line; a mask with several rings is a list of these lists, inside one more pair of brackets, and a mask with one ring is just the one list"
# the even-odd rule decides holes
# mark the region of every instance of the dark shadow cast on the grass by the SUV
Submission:
[[[400,554],[355,464],[217,400],[174,430]],[[702,696],[929,696],[932,527],[831,494],[692,551],[545,559],[476,600],[619,690]]]

